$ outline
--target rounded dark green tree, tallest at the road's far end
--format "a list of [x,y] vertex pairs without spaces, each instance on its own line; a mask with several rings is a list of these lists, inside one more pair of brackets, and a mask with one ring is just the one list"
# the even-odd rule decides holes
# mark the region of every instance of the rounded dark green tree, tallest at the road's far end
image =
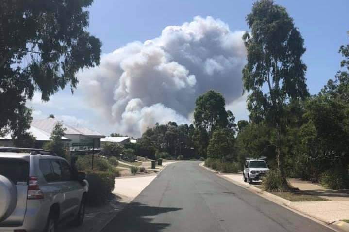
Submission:
[[228,125],[228,114],[222,94],[209,90],[196,99],[194,124],[197,128],[204,128],[209,135],[217,127],[225,128]]

